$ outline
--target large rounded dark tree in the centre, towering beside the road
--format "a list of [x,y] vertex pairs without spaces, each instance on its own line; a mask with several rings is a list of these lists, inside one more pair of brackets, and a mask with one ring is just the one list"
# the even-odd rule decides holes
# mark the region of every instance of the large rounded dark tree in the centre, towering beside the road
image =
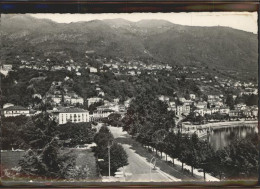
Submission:
[[167,104],[160,101],[153,90],[138,95],[123,118],[123,129],[131,135],[141,134],[149,140],[161,129],[169,131],[175,126],[174,112],[167,110]]

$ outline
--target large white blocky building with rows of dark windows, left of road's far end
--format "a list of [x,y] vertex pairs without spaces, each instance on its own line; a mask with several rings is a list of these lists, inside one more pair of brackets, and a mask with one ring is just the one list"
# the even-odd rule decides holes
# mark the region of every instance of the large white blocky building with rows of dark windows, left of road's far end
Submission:
[[89,112],[80,108],[62,108],[53,112],[58,119],[59,124],[66,124],[67,122],[81,123],[89,122]]

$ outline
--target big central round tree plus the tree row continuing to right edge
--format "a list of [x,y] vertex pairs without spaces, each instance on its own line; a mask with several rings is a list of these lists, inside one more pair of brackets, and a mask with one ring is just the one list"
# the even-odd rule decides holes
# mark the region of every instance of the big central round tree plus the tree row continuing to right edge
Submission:
[[[169,155],[173,160],[201,168],[214,176],[226,178],[255,177],[258,167],[257,137],[234,140],[228,147],[215,151],[208,141],[174,132],[173,115],[152,93],[140,94],[132,101],[123,129],[147,148]],[[246,153],[247,152],[247,153]],[[166,157],[167,158],[167,157]],[[174,163],[174,161],[173,161]]]

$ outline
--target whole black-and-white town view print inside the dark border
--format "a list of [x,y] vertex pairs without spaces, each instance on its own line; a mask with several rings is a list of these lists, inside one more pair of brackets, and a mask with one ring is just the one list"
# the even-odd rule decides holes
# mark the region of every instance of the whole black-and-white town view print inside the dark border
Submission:
[[1,182],[257,181],[257,17],[1,14]]

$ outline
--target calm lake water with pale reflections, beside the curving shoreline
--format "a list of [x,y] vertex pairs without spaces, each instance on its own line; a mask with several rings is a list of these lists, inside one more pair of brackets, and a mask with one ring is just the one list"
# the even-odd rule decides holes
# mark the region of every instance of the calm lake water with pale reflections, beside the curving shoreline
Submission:
[[228,146],[236,137],[245,138],[249,134],[258,133],[256,126],[238,126],[210,131],[208,140],[215,150]]

